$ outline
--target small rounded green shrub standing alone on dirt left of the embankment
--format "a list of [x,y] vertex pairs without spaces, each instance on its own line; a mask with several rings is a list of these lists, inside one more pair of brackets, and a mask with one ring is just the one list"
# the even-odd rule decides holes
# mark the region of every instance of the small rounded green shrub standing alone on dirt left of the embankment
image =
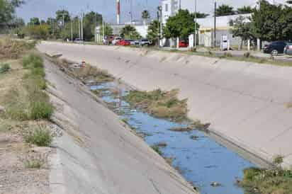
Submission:
[[27,143],[35,144],[40,147],[49,147],[52,143],[52,135],[50,131],[41,127],[33,130],[33,132],[29,132],[24,139]]

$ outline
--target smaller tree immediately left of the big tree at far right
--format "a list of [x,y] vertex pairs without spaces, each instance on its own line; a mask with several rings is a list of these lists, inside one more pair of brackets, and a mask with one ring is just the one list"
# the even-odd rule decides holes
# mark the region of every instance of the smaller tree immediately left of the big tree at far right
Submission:
[[240,16],[233,21],[233,29],[231,30],[233,37],[241,38],[241,46],[245,40],[254,40],[254,35],[251,31],[250,18]]

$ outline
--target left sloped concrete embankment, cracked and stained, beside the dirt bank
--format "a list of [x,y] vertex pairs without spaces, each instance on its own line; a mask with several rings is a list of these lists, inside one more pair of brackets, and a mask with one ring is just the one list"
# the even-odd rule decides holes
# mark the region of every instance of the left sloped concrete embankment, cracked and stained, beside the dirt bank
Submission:
[[196,193],[86,86],[50,62],[45,69],[52,120],[64,129],[54,142],[52,193]]

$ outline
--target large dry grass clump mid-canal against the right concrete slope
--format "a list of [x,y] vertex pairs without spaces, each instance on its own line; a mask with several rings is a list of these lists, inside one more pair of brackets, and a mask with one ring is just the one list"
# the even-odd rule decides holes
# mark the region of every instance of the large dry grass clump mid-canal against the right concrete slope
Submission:
[[186,120],[186,99],[177,98],[178,90],[161,91],[130,91],[124,100],[135,108],[143,110],[157,118],[167,118],[175,121]]

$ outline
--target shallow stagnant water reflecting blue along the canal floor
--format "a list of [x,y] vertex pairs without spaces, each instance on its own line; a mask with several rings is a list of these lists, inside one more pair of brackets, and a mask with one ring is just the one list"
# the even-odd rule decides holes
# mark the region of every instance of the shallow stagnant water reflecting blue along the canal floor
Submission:
[[[107,83],[91,86],[91,90],[103,89],[102,99],[107,103],[116,103],[113,110],[121,119],[128,120],[131,127],[137,132],[147,134],[145,141],[150,144],[166,142],[167,147],[160,150],[165,157],[173,157],[173,166],[180,169],[187,181],[199,188],[202,194],[244,194],[245,191],[236,185],[242,178],[242,170],[255,166],[243,159],[235,152],[210,139],[203,132],[173,132],[172,127],[186,127],[186,123],[171,122],[169,120],[154,118],[147,113],[133,110],[125,101],[120,101],[111,93],[117,84]],[[108,89],[108,90],[106,90]],[[127,89],[120,89],[125,95]],[[196,139],[191,139],[191,136]],[[211,186],[211,183],[220,183],[220,186]]]

